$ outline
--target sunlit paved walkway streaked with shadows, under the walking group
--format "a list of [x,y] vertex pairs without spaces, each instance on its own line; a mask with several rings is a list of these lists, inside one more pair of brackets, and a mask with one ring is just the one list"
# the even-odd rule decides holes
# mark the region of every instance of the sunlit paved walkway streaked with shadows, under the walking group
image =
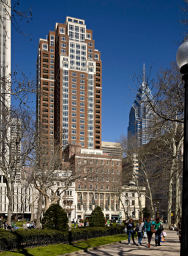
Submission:
[[[105,247],[99,250],[89,251],[87,253],[82,253],[81,255],[87,256],[179,256],[180,255],[180,243],[179,236],[175,231],[166,231],[166,241],[165,243],[160,243],[160,247],[154,247],[154,235],[152,237],[151,247],[146,248],[148,239],[142,239],[142,246],[138,247],[136,245],[128,245],[128,240],[116,244],[111,245],[109,247]],[[138,239],[136,240],[138,242]],[[132,242],[131,242],[132,243]]]

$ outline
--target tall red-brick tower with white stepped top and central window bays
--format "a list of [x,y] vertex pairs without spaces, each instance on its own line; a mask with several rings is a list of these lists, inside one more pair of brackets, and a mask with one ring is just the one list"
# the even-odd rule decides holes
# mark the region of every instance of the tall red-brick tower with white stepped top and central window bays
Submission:
[[45,144],[62,139],[101,149],[101,53],[85,20],[66,17],[48,39],[40,39],[37,59],[37,118]]

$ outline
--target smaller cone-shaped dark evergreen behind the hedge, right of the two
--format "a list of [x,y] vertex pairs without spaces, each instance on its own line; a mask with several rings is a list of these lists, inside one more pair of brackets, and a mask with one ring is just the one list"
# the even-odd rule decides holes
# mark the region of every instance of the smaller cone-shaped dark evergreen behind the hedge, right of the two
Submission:
[[101,210],[101,207],[97,206],[91,213],[89,226],[105,226],[105,216]]

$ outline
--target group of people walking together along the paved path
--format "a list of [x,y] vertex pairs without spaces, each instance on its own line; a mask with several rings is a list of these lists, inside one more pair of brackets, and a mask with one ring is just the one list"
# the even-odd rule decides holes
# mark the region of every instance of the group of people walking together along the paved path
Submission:
[[[128,245],[130,245],[130,238],[132,236],[132,241],[134,245],[136,245],[134,241],[134,234],[138,232],[138,246],[142,244],[142,238],[143,238],[143,232],[146,230],[146,234],[148,236],[148,248],[151,246],[151,240],[152,240],[152,234],[155,234],[155,246],[160,246],[160,235],[163,230],[163,225],[159,217],[156,217],[154,221],[152,221],[152,218],[150,216],[147,218],[147,220],[142,220],[140,218],[138,220],[138,223],[136,224],[136,227],[134,225],[134,221],[132,218],[126,223],[127,233],[128,233]],[[135,228],[135,229],[134,229]]]

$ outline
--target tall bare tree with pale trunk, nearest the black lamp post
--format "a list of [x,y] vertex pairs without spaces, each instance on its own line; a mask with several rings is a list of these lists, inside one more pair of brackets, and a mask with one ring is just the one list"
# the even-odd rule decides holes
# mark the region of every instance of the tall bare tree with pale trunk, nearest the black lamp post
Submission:
[[[148,85],[154,92],[152,98],[148,94]],[[175,61],[171,62],[169,68],[160,69],[156,78],[146,83],[145,94],[149,106],[148,111],[153,113],[153,119],[148,124],[148,133],[155,134],[156,151],[161,154],[167,152],[163,158],[166,158],[169,170],[168,223],[170,226],[173,179],[176,172],[181,170],[179,166],[182,164],[179,154],[183,146],[184,122],[184,85]]]

